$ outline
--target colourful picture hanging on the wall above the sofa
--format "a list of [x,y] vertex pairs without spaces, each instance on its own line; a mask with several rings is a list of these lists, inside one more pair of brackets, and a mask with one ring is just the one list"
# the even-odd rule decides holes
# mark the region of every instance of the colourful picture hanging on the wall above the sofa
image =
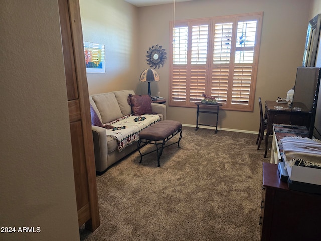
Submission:
[[87,73],[105,73],[105,45],[84,41]]

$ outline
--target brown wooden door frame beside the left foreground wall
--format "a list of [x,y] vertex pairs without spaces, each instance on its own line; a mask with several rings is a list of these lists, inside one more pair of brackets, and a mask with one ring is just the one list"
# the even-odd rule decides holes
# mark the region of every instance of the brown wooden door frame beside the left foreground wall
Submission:
[[[94,231],[99,227],[100,220],[79,1],[58,0],[58,6],[64,52],[65,75],[66,79],[72,78],[71,81],[67,81],[69,120],[70,123],[75,121],[81,122],[86,170],[84,175],[87,175],[85,178],[88,185],[86,187],[88,189],[88,197],[86,198],[88,198],[89,202],[87,205],[77,210],[78,223],[79,226],[85,223],[86,229]],[[69,86],[68,82],[71,83]],[[75,159],[74,156],[73,159]],[[77,160],[74,160],[74,165],[75,163],[77,163]],[[79,173],[75,173],[76,193],[77,175],[79,175]]]

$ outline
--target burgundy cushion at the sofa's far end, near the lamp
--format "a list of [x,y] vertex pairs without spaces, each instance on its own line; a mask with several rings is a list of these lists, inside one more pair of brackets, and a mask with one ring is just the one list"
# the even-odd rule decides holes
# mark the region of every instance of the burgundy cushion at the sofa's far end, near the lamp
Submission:
[[149,95],[129,94],[128,104],[131,105],[133,115],[152,114],[151,98]]

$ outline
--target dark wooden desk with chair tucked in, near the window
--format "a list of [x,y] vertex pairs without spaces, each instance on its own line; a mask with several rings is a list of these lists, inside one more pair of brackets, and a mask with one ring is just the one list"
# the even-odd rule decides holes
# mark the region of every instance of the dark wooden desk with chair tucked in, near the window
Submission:
[[[281,106],[283,109],[274,108],[274,106]],[[265,101],[265,115],[267,118],[266,136],[265,136],[265,153],[267,154],[267,146],[269,141],[269,135],[273,134],[273,123],[279,124],[291,124],[298,126],[309,127],[311,122],[311,112],[309,112],[304,104],[298,103],[295,106],[300,106],[301,111],[294,111],[288,109],[287,103],[277,103],[275,100]]]

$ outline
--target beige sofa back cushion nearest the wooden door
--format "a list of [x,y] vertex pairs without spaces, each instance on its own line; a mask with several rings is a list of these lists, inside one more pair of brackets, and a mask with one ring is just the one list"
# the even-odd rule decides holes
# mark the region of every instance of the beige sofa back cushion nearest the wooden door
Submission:
[[114,93],[95,94],[92,95],[92,99],[101,115],[101,122],[103,124],[122,117]]

